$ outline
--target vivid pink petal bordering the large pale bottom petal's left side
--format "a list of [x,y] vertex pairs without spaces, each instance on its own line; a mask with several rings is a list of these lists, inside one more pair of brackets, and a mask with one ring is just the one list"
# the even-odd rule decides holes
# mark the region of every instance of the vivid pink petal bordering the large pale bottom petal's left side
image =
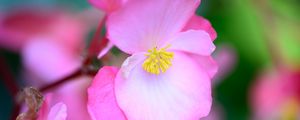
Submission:
[[114,79],[118,69],[103,67],[99,70],[88,88],[88,111],[93,120],[125,120],[119,108],[115,92]]

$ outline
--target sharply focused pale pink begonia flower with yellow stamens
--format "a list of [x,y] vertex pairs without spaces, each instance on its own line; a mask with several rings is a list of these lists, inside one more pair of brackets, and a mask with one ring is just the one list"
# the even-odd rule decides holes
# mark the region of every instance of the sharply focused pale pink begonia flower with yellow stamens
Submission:
[[108,17],[108,38],[132,54],[115,79],[116,100],[128,119],[198,119],[209,113],[212,76],[191,55],[210,56],[215,46],[203,30],[181,32],[199,3],[129,1]]

